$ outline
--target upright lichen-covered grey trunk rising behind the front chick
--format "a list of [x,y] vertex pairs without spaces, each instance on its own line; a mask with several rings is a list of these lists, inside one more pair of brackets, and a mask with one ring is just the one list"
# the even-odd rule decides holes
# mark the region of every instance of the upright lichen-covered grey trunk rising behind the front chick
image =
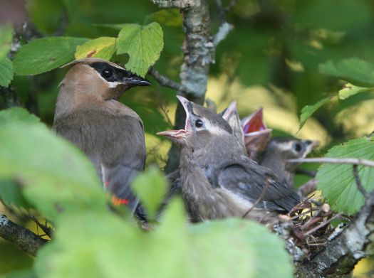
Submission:
[[[155,0],[152,0],[155,1]],[[186,0],[183,0],[188,2]],[[191,3],[192,1],[189,1]],[[209,74],[209,65],[214,63],[214,45],[210,31],[209,6],[207,0],[194,1],[196,5],[189,5],[181,9],[183,17],[183,63],[180,68],[180,82],[186,90],[185,97],[199,105],[204,103]],[[175,112],[175,129],[185,126],[185,109],[180,103]],[[165,171],[170,173],[178,168],[180,149],[173,144],[169,151],[169,159]]]

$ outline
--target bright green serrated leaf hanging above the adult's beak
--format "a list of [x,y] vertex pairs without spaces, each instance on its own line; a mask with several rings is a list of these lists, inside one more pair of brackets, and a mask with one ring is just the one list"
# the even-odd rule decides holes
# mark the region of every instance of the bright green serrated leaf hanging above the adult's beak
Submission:
[[126,68],[142,77],[160,58],[163,47],[162,28],[156,22],[147,26],[126,24],[118,34],[117,54],[128,53],[130,60]]

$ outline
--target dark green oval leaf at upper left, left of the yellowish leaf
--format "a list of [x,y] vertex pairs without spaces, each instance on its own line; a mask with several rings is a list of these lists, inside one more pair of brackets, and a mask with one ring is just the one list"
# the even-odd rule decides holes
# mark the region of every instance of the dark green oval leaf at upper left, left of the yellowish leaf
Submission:
[[58,68],[74,59],[76,47],[87,38],[37,38],[22,46],[14,57],[14,72],[18,75],[37,75]]

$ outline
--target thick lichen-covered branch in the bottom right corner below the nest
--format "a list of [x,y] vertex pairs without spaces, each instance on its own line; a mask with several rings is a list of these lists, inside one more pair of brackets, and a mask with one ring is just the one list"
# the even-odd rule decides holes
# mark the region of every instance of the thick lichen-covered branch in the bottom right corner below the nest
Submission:
[[298,265],[298,277],[341,277],[349,273],[360,259],[370,255],[369,243],[374,234],[374,192],[367,196],[360,213],[346,230],[330,239],[312,260]]

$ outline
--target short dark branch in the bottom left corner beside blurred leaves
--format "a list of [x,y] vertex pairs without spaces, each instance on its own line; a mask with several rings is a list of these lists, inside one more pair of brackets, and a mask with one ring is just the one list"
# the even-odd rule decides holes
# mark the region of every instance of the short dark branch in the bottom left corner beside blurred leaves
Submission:
[[31,230],[12,222],[5,215],[0,215],[0,237],[12,242],[16,247],[33,256],[36,255],[42,245],[48,242]]

